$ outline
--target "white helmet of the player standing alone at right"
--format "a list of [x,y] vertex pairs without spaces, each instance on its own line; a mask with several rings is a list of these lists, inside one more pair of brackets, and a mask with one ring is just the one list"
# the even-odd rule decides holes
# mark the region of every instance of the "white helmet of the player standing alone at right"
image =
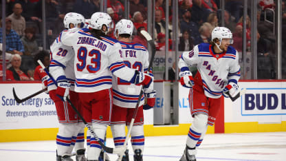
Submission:
[[232,32],[225,27],[217,27],[212,30],[212,41],[216,38],[219,39],[219,42],[223,39],[230,39],[230,43],[233,43]]

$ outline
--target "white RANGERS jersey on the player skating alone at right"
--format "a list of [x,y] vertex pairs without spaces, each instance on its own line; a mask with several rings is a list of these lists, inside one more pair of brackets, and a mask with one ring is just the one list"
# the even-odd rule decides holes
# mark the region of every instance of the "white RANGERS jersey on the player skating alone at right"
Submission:
[[237,84],[241,76],[239,53],[231,46],[226,52],[214,54],[210,44],[196,45],[190,52],[183,52],[178,63],[181,72],[192,65],[197,65],[204,94],[210,98],[221,97],[225,85],[230,82]]

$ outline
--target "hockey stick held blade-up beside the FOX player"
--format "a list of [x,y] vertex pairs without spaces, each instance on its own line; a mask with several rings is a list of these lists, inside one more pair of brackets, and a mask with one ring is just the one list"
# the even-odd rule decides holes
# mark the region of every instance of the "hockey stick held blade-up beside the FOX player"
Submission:
[[[145,30],[141,30],[141,34],[145,37],[145,39],[147,40],[149,45],[151,45],[151,49],[152,49],[151,60],[150,60],[149,66],[148,66],[148,72],[149,72],[151,67],[152,67],[152,63],[154,61],[154,57],[155,57],[155,54],[156,54],[156,47],[155,47],[155,43],[154,43],[152,37],[150,36],[150,34],[148,34],[148,32],[146,32]],[[140,94],[139,94],[139,97],[137,99],[137,104],[136,104],[136,107],[135,107],[135,111],[133,113],[133,116],[132,116],[132,119],[131,119],[131,122],[130,122],[130,125],[129,125],[129,130],[128,130],[127,136],[125,138],[123,147],[126,147],[126,145],[127,145],[127,142],[128,142],[128,139],[129,139],[129,136],[131,134],[131,130],[132,130],[132,127],[133,127],[133,124],[134,124],[134,120],[135,120],[135,118],[137,116],[137,111],[139,109],[139,104],[140,104],[142,95],[143,95],[143,86],[142,86],[142,88],[140,90]],[[122,160],[123,155],[124,155],[124,153],[120,154],[120,157],[118,159],[119,161]]]

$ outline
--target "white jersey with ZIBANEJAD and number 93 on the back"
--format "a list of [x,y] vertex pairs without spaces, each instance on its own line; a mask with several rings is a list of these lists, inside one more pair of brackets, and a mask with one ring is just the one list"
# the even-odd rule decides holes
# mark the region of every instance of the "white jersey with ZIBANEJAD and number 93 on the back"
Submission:
[[88,29],[62,32],[59,41],[75,51],[76,92],[91,93],[111,88],[111,73],[125,81],[135,81],[135,70],[124,64],[118,41],[109,37],[97,39]]

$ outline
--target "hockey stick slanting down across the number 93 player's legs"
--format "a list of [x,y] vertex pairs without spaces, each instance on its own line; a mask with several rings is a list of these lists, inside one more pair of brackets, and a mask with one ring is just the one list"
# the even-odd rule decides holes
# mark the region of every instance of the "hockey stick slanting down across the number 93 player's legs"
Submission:
[[[50,74],[50,72],[47,71],[47,69],[45,68],[45,66],[43,65],[43,63],[38,60],[38,63],[41,65],[41,67],[44,69],[44,71],[47,73],[48,76],[50,76],[50,78],[52,79],[52,81],[54,82],[54,84],[57,86],[56,81],[54,80],[54,78],[52,77],[52,75]],[[100,139],[98,138],[98,136],[96,135],[96,133],[94,132],[94,130],[87,124],[87,122],[85,121],[85,119],[83,118],[83,116],[80,114],[80,112],[78,111],[78,109],[76,109],[76,107],[74,106],[74,104],[72,103],[71,100],[69,100],[69,98],[67,97],[67,102],[69,103],[69,105],[72,106],[72,109],[74,109],[74,111],[76,112],[76,114],[78,114],[78,116],[80,117],[81,120],[83,120],[83,123],[85,124],[85,127],[87,127],[87,129],[89,129],[90,133],[92,134],[92,136],[94,136],[94,138],[96,139],[96,141],[98,142],[98,144],[100,144],[100,146],[102,147],[102,149],[104,149],[104,151],[106,151],[107,153],[117,153],[120,154],[122,153],[122,151],[124,152],[125,149],[124,147],[120,147],[120,148],[111,148],[111,147],[106,147],[104,145],[104,143],[102,143],[100,141]]]

